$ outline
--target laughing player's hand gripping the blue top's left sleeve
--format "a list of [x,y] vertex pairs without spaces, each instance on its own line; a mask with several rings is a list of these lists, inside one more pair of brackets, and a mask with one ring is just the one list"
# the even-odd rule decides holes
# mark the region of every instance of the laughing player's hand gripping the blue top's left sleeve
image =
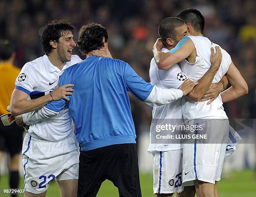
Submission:
[[67,88],[67,87],[74,87],[74,84],[66,84],[60,87],[56,86],[54,90],[51,92],[51,96],[53,97],[53,100],[65,99],[69,101],[70,99],[66,96],[72,95],[72,92],[74,92],[74,89]]

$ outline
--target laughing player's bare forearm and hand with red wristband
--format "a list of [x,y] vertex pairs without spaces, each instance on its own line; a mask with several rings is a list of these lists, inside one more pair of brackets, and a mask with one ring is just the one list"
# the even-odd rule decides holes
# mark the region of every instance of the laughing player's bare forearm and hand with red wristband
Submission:
[[13,116],[18,116],[27,112],[38,110],[53,100],[69,100],[69,98],[67,98],[66,96],[72,95],[72,92],[74,90],[67,87],[73,86],[73,84],[67,84],[60,87],[55,87],[55,89],[49,95],[45,95],[34,100],[27,100],[28,94],[21,90],[15,89],[13,90],[10,101],[10,112]]

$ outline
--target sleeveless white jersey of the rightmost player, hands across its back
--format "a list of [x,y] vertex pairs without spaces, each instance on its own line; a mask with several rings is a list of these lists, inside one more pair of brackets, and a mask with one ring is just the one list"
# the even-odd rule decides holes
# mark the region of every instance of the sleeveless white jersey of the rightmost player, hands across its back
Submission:
[[[210,56],[211,56],[211,47],[219,46],[215,43],[212,43],[207,37],[203,36],[188,36],[194,43],[197,57],[195,63],[189,63],[187,60],[182,60],[179,63],[179,66],[191,80],[198,81],[200,80],[207,70],[209,70]],[[220,68],[215,74],[212,82],[220,82],[222,77],[228,71],[228,68],[231,63],[231,57],[224,49],[221,49],[223,54],[222,62]],[[223,102],[221,96],[219,95],[210,105],[207,105],[208,101],[205,102],[196,102],[190,99],[188,96],[182,97],[182,114],[184,120],[194,120],[194,119],[227,119],[227,115],[223,108]]]

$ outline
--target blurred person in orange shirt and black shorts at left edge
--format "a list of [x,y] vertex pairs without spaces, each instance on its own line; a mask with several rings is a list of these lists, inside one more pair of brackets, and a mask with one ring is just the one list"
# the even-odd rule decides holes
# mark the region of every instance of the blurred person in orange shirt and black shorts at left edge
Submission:
[[[20,69],[13,65],[15,60],[14,46],[8,40],[0,40],[0,115],[6,114],[15,86],[15,79]],[[0,162],[3,151],[8,152],[8,170],[10,188],[18,188],[20,151],[22,148],[23,130],[16,124],[5,127],[0,121]],[[12,197],[17,196],[15,194]]]

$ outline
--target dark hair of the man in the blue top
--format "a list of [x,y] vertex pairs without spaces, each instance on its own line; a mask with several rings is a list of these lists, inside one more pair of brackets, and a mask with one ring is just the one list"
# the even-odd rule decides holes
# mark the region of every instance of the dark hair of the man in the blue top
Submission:
[[81,27],[78,33],[77,47],[79,51],[85,55],[92,50],[97,50],[104,46],[102,42],[105,37],[105,42],[108,41],[108,31],[100,24],[91,22]]

